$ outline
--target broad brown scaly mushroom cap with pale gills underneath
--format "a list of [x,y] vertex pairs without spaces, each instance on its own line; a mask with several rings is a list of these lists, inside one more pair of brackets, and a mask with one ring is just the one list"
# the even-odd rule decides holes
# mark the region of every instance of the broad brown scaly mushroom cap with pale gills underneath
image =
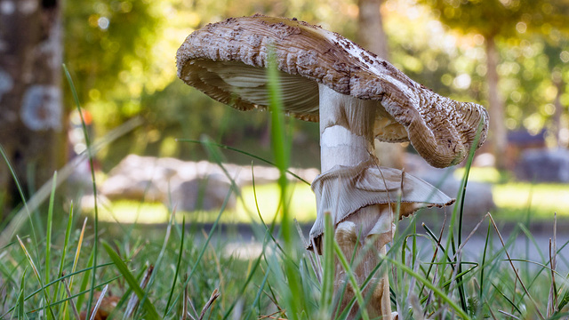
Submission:
[[230,18],[190,34],[177,52],[178,76],[241,110],[267,108],[270,52],[290,116],[318,121],[318,84],[355,99],[377,100],[374,136],[411,141],[431,165],[460,163],[485,141],[482,106],[438,95],[348,39],[299,20]]

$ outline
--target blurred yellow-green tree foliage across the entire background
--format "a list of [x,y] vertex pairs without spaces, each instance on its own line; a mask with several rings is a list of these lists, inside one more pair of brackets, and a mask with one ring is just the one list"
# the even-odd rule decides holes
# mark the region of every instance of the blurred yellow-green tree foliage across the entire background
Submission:
[[[569,90],[559,88],[569,82],[569,50],[564,12],[557,2],[421,3],[434,10],[411,0],[387,0],[383,5],[390,60],[397,68],[436,92],[487,105],[484,44],[488,36],[501,35],[497,72],[505,124],[509,129],[540,131],[551,126],[559,100],[565,108],[561,124],[566,126]],[[270,155],[267,114],[223,106],[181,84],[175,75],[175,52],[196,28],[259,12],[307,20],[351,39],[357,35],[358,8],[353,0],[84,0],[66,5],[65,61],[84,108],[93,115],[97,135],[132,116],[146,120],[138,132],[102,154],[105,169],[131,152],[203,158],[199,146],[174,140],[199,139],[202,133]],[[293,152],[302,151],[302,160],[293,165],[317,165],[317,124],[291,122],[297,144]]]

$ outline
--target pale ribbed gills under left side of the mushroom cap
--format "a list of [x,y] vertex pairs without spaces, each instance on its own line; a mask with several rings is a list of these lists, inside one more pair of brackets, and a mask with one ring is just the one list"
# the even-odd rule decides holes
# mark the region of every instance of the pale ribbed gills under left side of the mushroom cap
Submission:
[[[200,79],[242,100],[267,107],[270,101],[266,68],[252,67],[241,62],[195,60],[194,66],[207,69]],[[281,100],[284,110],[292,113],[318,113],[318,84],[307,78],[278,71]]]

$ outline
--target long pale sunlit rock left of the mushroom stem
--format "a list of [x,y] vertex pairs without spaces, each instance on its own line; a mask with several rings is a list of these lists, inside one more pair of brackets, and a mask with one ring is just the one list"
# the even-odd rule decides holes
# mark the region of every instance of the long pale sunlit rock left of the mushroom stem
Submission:
[[[218,164],[207,161],[185,162],[174,158],[153,156],[126,156],[108,173],[100,188],[109,199],[157,201],[175,205],[177,210],[219,209],[228,195],[231,184],[242,187],[275,182],[279,172],[274,167]],[[292,169],[309,182],[319,173],[317,169]],[[231,180],[228,179],[231,177]],[[288,175],[290,180],[296,180]],[[230,196],[228,208],[235,206],[235,195]]]

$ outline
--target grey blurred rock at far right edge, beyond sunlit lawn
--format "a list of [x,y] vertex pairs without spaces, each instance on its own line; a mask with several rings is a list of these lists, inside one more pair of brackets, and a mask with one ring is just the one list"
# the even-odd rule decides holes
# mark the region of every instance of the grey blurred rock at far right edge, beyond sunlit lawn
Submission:
[[517,179],[538,182],[569,182],[569,150],[525,150],[516,167]]

